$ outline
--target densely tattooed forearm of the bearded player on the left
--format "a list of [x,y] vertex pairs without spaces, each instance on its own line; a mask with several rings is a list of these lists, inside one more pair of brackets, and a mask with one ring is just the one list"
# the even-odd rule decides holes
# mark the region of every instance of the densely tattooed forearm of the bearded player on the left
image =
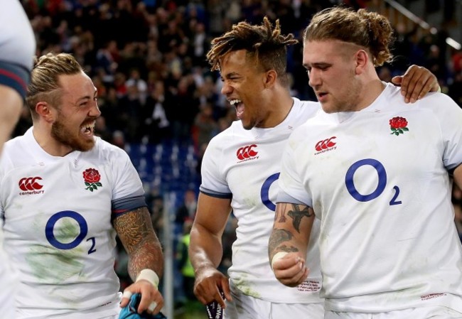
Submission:
[[122,244],[129,255],[128,271],[131,279],[136,280],[143,269],[152,269],[161,276],[163,256],[161,244],[152,227],[146,207],[140,207],[117,217],[114,222]]

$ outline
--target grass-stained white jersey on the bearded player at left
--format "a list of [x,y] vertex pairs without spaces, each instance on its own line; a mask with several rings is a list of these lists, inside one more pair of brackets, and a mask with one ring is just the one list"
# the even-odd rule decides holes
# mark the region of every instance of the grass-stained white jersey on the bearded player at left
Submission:
[[21,273],[18,318],[119,313],[111,220],[143,206],[144,190],[127,153],[95,140],[91,151],[63,157],[43,151],[32,129],[5,144],[0,212]]

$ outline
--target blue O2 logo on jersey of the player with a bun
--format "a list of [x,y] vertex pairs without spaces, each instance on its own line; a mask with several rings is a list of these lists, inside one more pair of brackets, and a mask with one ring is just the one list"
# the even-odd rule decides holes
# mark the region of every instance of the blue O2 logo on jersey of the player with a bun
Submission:
[[[355,183],[353,181],[353,177],[358,171],[358,168],[361,168],[362,166],[372,166],[375,168],[375,171],[377,172],[378,176],[378,183],[377,183],[377,188],[375,188],[374,191],[370,194],[363,195],[355,187]],[[355,199],[358,200],[358,202],[369,202],[370,200],[375,200],[375,198],[379,197],[383,191],[385,190],[385,187],[387,186],[387,171],[385,171],[385,166],[382,165],[379,161],[373,159],[373,158],[365,158],[360,161],[357,161],[353,163],[350,168],[348,168],[348,171],[345,175],[345,185],[348,190],[348,193]],[[398,195],[399,195],[399,187],[394,186],[394,195],[392,200],[390,200],[390,205],[399,205],[402,204],[402,201],[397,200]]]

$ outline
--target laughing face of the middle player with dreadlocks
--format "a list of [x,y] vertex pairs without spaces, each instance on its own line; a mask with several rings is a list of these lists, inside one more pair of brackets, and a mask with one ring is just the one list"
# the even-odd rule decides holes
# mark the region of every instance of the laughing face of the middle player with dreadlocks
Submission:
[[237,118],[245,129],[267,127],[271,116],[269,103],[265,102],[267,75],[246,53],[246,50],[236,50],[220,59],[221,92],[236,108]]

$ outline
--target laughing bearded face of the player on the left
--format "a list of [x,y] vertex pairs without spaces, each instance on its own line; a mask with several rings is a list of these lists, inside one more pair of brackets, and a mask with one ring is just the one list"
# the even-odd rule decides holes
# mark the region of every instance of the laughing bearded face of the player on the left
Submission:
[[60,75],[60,107],[55,108],[51,136],[72,150],[90,151],[95,146],[95,120],[101,112],[97,90],[85,72]]

